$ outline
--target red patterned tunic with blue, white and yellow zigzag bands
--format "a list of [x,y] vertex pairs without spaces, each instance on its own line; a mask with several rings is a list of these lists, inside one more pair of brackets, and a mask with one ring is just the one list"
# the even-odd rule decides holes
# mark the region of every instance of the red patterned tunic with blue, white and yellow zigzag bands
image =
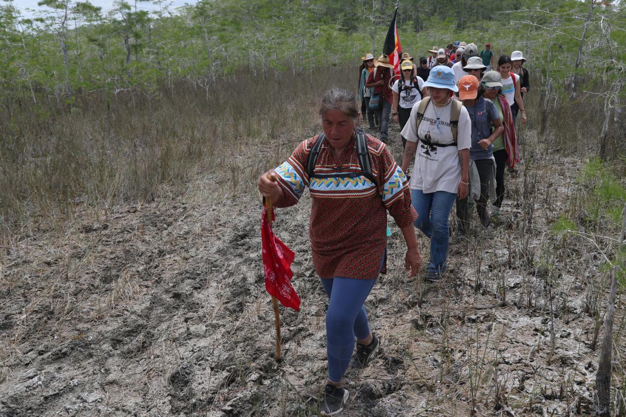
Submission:
[[[376,184],[365,176],[309,181],[307,159],[316,139],[314,136],[300,143],[289,159],[276,168],[282,195],[274,205],[294,205],[308,187],[312,198],[309,235],[317,274],[321,278],[377,278],[387,244],[387,210],[399,227],[418,217],[411,206],[406,176],[387,146],[366,135]],[[355,172],[361,172],[355,138],[339,161],[332,146],[324,141],[314,173]]]

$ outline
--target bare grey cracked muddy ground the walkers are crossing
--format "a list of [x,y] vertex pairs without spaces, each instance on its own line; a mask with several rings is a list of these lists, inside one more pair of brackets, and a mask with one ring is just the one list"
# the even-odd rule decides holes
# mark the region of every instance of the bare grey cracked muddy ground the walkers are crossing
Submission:
[[[298,140],[281,138],[282,149]],[[582,161],[532,133],[523,140],[503,220],[485,231],[473,213],[443,282],[407,278],[390,226],[389,273],[366,303],[381,351],[347,374],[344,415],[590,414],[602,257],[582,237],[550,233],[580,192]],[[397,131],[392,148],[399,158]],[[199,176],[184,196],[99,218],[76,208],[63,233],[40,229],[3,249],[0,416],[317,413],[326,296],[307,239],[310,199],[277,211],[302,298],[299,312],[281,308],[277,365],[259,198],[213,192],[228,181]]]

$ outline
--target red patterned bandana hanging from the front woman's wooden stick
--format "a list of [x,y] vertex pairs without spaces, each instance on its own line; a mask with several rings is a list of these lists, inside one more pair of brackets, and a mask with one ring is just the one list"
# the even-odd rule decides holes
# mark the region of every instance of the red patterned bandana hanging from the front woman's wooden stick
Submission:
[[[272,213],[272,221],[274,213]],[[261,216],[261,247],[263,251],[263,273],[265,275],[265,289],[285,307],[300,309],[300,297],[291,286],[291,263],[294,261],[294,252],[287,248],[279,238],[274,236],[272,226],[267,221],[267,206]]]

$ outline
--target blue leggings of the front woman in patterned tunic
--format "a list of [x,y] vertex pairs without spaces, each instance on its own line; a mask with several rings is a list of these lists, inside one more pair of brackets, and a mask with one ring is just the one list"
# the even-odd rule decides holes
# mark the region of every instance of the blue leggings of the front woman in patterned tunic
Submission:
[[354,338],[369,334],[363,303],[376,279],[321,278],[329,298],[326,311],[326,354],[328,379],[341,382],[354,351]]

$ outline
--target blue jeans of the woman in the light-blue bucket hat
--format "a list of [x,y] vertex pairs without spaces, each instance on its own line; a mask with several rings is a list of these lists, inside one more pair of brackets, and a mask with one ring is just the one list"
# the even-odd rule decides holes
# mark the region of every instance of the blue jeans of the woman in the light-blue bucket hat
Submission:
[[431,239],[428,271],[443,273],[446,270],[449,217],[455,200],[456,193],[424,193],[421,189],[411,189],[411,204],[418,212],[418,219],[413,224]]

